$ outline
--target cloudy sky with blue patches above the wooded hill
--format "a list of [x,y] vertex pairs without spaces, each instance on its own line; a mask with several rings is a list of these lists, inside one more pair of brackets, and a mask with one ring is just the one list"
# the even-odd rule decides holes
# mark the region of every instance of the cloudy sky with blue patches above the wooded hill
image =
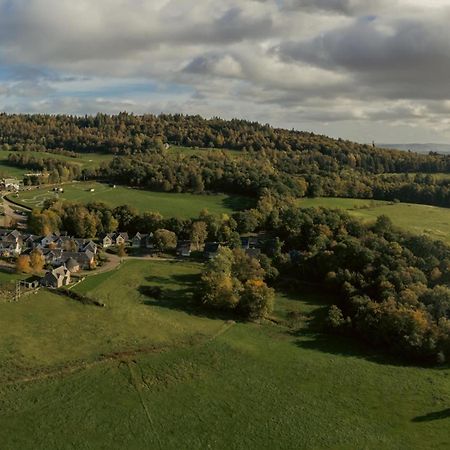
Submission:
[[0,110],[450,143],[450,0],[0,0]]

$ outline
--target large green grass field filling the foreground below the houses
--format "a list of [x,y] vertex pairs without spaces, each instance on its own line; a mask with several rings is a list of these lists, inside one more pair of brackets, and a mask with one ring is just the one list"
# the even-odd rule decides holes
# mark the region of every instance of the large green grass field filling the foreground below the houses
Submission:
[[[0,442],[14,449],[435,449],[450,445],[450,369],[391,364],[308,326],[327,299],[280,295],[289,328],[202,314],[200,266],[127,261],[0,304]],[[141,294],[159,285],[162,298]]]

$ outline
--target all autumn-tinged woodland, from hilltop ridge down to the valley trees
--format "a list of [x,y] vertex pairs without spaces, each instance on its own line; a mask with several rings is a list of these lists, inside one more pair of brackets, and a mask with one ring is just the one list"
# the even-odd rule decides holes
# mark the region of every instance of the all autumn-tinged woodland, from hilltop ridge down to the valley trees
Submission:
[[[450,181],[433,173],[449,172],[450,157],[182,115],[0,115],[0,130],[11,164],[47,171],[55,179],[107,179],[168,192],[238,192],[258,199],[256,208],[232,216],[204,211],[191,220],[53,200],[31,214],[33,232],[95,237],[118,229],[140,231],[154,233],[161,250],[173,248],[177,239],[191,239],[199,248],[206,240],[221,242],[227,249],[206,265],[199,286],[206,306],[259,318],[270,314],[271,285],[300,288],[313,282],[336,297],[327,320],[332,332],[358,336],[414,361],[449,360],[450,247],[398,230],[386,217],[365,225],[336,210],[300,209],[296,199],[338,196],[448,207]],[[210,151],[171,153],[165,143]],[[31,159],[26,150],[117,156],[109,165],[76,173],[71,163]],[[257,261],[238,250],[240,235],[254,232],[267,236]]]

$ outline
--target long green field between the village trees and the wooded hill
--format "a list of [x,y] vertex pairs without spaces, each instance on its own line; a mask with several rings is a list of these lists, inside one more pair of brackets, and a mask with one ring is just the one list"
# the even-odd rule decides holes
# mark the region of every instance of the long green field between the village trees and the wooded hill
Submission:
[[[94,192],[90,192],[91,189],[94,189]],[[124,186],[113,188],[108,184],[92,182],[66,184],[64,193],[58,195],[66,200],[103,202],[112,207],[128,205],[141,212],[159,211],[165,217],[182,218],[197,216],[205,208],[210,213],[221,214],[245,209],[253,204],[247,197],[153,192]],[[39,208],[44,200],[54,197],[55,193],[47,187],[21,192],[19,197],[13,196],[12,199],[28,208]]]

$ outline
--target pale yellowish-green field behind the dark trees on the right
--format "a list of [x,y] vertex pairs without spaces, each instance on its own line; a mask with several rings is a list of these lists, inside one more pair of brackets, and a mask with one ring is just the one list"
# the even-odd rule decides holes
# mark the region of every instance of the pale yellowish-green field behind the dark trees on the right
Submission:
[[305,198],[299,200],[299,205],[305,208],[323,206],[345,209],[352,216],[364,221],[373,221],[378,216],[385,214],[395,225],[405,230],[450,243],[450,208],[331,197]]

